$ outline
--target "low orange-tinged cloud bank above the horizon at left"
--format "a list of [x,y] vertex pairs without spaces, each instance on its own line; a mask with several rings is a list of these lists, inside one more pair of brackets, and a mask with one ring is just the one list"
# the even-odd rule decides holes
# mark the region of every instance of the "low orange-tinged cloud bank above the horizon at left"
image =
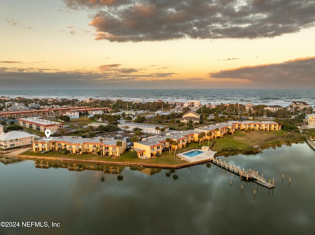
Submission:
[[[0,84],[3,89],[30,89],[47,87],[65,88],[99,88],[142,87],[152,78],[172,78],[176,73],[144,73],[143,69],[120,68],[121,64],[105,64],[95,70],[59,71],[45,68],[6,68],[0,67]],[[148,85],[148,84],[147,84]]]

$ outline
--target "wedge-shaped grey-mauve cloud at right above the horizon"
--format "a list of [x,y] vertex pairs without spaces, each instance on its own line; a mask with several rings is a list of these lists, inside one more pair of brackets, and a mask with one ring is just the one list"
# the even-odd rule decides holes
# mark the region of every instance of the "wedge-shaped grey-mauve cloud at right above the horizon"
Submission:
[[208,75],[209,78],[247,79],[269,87],[315,87],[314,74],[315,56],[222,70]]

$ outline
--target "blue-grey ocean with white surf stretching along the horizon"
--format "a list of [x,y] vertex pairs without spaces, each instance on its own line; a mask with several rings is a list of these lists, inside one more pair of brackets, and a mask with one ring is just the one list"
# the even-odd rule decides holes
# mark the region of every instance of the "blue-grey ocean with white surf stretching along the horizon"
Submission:
[[315,105],[314,89],[59,89],[59,90],[0,90],[0,97],[10,98],[68,98],[85,100],[124,100],[153,102],[186,102],[198,100],[202,104],[246,104],[288,106],[292,101],[306,101]]

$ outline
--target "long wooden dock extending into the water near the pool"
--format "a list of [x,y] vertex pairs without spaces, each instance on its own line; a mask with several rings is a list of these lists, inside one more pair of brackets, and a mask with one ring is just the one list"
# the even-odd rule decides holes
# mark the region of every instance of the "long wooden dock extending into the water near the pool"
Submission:
[[259,176],[258,172],[255,170],[247,170],[245,171],[244,168],[241,169],[239,166],[236,167],[235,165],[230,165],[229,162],[226,161],[222,161],[221,159],[217,158],[217,157],[211,157],[210,161],[212,163],[214,163],[217,166],[220,166],[223,169],[226,169],[232,173],[234,173],[235,175],[240,176],[240,178],[242,179],[246,179],[246,181],[249,180],[254,180],[255,183],[258,183],[262,186],[265,186],[267,188],[274,188],[274,180],[271,183],[271,180],[269,180],[269,182],[267,182],[267,180],[265,178],[263,178],[263,175]]

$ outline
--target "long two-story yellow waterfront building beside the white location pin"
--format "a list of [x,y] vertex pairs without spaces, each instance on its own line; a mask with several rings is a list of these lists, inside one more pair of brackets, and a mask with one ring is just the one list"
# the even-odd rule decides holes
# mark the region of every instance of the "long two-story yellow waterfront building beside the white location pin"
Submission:
[[91,153],[102,156],[120,157],[126,150],[126,140],[121,141],[121,146],[117,145],[114,138],[82,138],[77,136],[51,137],[51,139],[41,138],[33,142],[33,151],[55,151],[67,150],[69,154]]

